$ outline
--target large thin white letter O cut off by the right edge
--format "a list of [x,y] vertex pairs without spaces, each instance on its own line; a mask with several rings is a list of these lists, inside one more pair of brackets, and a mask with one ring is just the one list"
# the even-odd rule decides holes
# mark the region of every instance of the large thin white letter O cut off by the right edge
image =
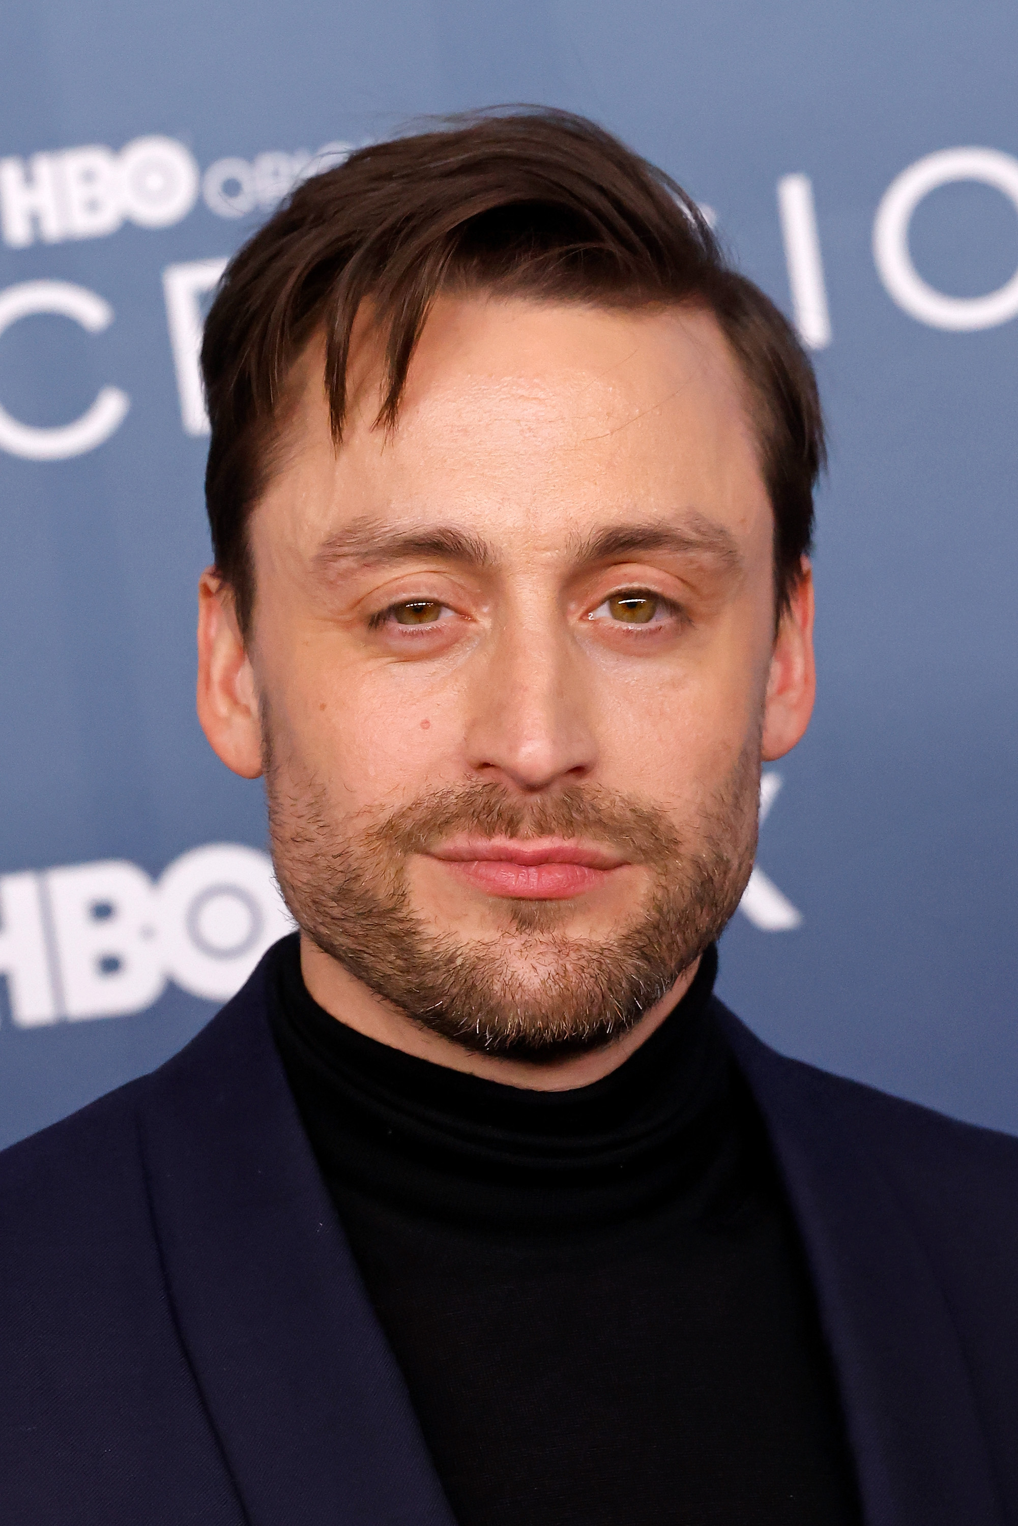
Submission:
[[955,333],[995,328],[1018,316],[1018,270],[986,296],[946,296],[923,281],[908,249],[919,203],[957,180],[992,186],[1018,212],[1018,159],[997,148],[945,148],[910,165],[884,192],[873,223],[873,259],[890,296],[920,324]]

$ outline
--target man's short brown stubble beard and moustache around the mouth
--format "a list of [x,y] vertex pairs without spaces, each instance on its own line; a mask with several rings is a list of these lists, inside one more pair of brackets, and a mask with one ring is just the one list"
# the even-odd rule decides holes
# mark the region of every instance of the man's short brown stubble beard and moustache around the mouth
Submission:
[[[351,830],[269,734],[264,761],[276,877],[302,932],[423,1029],[488,1054],[548,1061],[629,1032],[720,934],[752,870],[759,736],[682,830],[601,787],[523,800],[481,780]],[[499,900],[505,928],[490,937],[435,932],[411,903],[406,861],[461,833],[606,844],[650,885],[603,938],[569,935],[562,900]]]

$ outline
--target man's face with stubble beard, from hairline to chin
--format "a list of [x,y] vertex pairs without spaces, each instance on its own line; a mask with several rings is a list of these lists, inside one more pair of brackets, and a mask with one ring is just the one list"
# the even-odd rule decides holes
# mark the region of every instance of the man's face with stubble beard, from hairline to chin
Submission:
[[604,1042],[734,911],[762,746],[809,714],[720,331],[444,298],[389,435],[365,327],[339,450],[317,349],[301,374],[218,751],[256,772],[256,725],[290,908],[386,1001],[495,1051]]

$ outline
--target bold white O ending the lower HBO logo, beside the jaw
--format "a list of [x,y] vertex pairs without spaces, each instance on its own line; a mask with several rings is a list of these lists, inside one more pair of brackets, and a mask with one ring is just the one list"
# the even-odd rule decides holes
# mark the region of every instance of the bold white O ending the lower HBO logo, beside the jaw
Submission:
[[166,974],[206,1001],[237,992],[293,922],[272,859],[240,842],[209,842],[182,853],[159,885],[159,928]]

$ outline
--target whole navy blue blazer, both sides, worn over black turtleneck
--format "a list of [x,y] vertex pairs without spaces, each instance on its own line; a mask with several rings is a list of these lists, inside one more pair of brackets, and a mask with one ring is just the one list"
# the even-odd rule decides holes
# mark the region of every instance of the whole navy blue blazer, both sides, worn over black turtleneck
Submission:
[[[719,1010],[868,1526],[1018,1523],[1018,1140],[784,1059]],[[0,1521],[453,1526],[264,966],[160,1070],[0,1155]]]

